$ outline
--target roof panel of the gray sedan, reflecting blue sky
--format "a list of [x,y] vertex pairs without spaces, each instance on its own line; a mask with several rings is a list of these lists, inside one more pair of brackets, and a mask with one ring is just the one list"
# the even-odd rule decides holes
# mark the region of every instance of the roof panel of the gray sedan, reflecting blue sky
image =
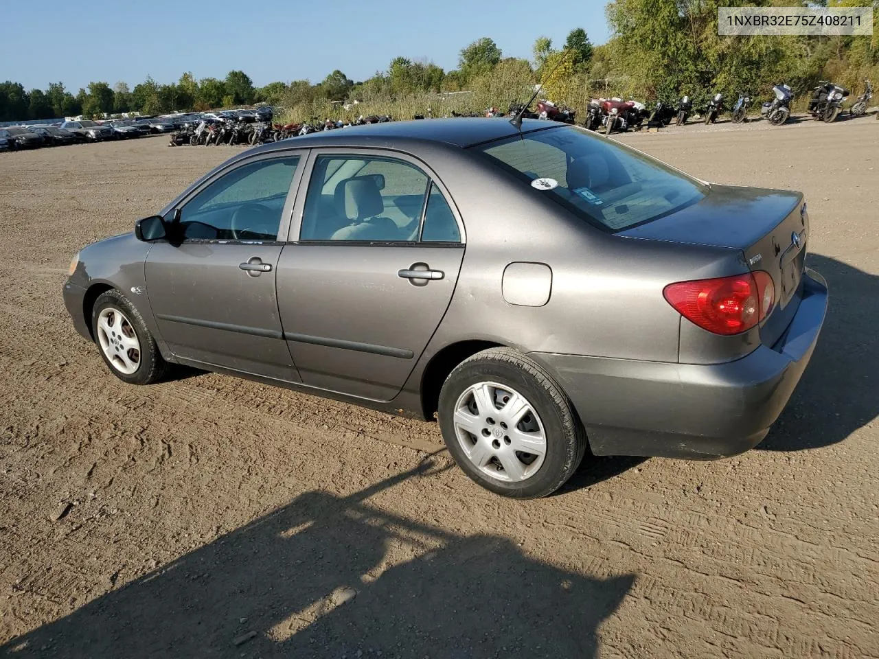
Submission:
[[366,126],[352,126],[322,131],[291,140],[270,142],[264,150],[272,148],[291,148],[293,143],[309,148],[318,146],[357,146],[363,145],[364,138],[377,137],[382,141],[417,140],[444,142],[465,148],[486,141],[500,140],[521,133],[531,133],[564,124],[556,121],[540,119],[523,119],[521,131],[510,123],[510,119],[498,118],[465,118],[454,119],[412,119],[410,121],[387,121]]

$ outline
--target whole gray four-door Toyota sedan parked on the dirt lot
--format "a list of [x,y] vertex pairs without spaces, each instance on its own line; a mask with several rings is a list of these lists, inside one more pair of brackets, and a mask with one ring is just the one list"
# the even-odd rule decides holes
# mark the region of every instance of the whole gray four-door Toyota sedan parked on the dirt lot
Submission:
[[766,436],[824,322],[803,195],[707,184],[584,129],[435,119],[244,152],[73,260],[111,373],[184,364],[436,417],[498,494],[586,453]]

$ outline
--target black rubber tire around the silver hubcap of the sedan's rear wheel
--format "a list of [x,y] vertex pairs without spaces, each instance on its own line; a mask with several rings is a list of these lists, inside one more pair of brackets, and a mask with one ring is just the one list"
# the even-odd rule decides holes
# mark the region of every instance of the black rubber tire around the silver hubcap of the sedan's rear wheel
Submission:
[[[469,387],[479,382],[493,382],[518,391],[541,419],[545,457],[534,474],[524,480],[509,482],[486,474],[469,459],[458,439],[454,424],[455,405]],[[534,360],[509,348],[477,352],[456,366],[440,391],[438,416],[443,439],[458,466],[474,482],[501,496],[531,499],[555,492],[577,471],[588,445],[583,424],[562,387]],[[493,425],[492,419],[486,421],[489,422],[492,427],[500,429],[500,425]],[[506,437],[504,441],[509,443]]]

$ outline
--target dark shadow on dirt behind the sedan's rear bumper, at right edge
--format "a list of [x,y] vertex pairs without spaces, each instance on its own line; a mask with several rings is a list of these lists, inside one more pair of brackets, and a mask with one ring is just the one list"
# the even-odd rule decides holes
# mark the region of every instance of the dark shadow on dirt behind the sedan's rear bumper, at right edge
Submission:
[[827,280],[829,308],[803,380],[758,446],[767,451],[836,444],[879,416],[879,277],[820,254],[807,264]]

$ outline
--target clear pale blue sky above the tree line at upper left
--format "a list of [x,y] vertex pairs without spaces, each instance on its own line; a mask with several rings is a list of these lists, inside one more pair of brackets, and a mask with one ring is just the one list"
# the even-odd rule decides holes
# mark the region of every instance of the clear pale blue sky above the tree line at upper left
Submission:
[[242,0],[3,4],[0,81],[30,90],[60,80],[73,93],[98,80],[134,87],[150,75],[171,83],[187,70],[202,78],[242,69],[258,86],[315,83],[333,69],[360,81],[397,55],[454,69],[461,47],[483,36],[505,56],[528,58],[537,37],[561,46],[574,27],[593,44],[607,40],[604,0],[299,0],[287,9]]

